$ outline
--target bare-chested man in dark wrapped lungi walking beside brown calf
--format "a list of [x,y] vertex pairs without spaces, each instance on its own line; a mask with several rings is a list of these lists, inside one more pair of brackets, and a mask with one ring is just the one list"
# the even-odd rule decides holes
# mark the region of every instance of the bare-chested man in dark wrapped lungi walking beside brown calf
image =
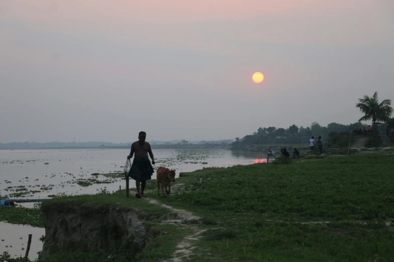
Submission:
[[146,180],[149,180],[154,172],[148,158],[149,154],[152,159],[152,165],[154,165],[153,153],[150,149],[149,143],[145,142],[145,139],[146,133],[141,131],[138,134],[138,141],[131,145],[130,155],[127,156],[127,159],[130,159],[134,155],[133,164],[129,171],[129,177],[135,180],[135,185],[137,187],[137,194],[135,194],[135,196],[137,198],[146,197],[143,194],[146,186]]

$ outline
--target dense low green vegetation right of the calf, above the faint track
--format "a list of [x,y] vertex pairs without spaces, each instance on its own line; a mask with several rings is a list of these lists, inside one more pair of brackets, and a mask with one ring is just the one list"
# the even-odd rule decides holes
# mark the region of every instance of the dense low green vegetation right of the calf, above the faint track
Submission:
[[291,165],[206,168],[202,183],[196,179],[167,201],[207,213],[257,212],[281,219],[394,218],[392,160],[393,155],[366,154],[293,160]]

